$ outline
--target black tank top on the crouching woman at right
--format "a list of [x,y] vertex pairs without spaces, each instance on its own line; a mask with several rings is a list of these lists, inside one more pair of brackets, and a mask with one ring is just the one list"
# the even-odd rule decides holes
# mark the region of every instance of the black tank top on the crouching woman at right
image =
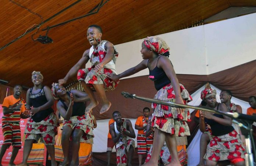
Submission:
[[[218,104],[218,106],[219,106],[219,104]],[[218,109],[218,106],[217,106],[217,109]],[[223,115],[220,115],[220,114],[214,113],[213,116],[224,119]],[[211,131],[212,131],[213,136],[223,136],[223,135],[228,134],[234,130],[234,127],[232,127],[232,126],[221,125],[220,123],[218,123],[214,120],[211,120],[211,119],[205,118],[205,122],[211,126]]]

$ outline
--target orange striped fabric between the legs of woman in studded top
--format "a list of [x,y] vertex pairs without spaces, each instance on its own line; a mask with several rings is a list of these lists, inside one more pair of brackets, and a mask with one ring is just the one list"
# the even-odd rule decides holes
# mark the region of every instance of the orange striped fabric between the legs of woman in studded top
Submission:
[[45,157],[45,144],[33,144],[32,150],[28,156],[29,165],[43,164]]

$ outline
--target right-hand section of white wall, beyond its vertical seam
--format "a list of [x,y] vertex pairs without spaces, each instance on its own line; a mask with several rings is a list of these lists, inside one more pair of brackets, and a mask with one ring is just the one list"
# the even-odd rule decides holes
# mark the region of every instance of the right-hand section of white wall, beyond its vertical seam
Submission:
[[209,74],[256,59],[256,13],[205,25]]

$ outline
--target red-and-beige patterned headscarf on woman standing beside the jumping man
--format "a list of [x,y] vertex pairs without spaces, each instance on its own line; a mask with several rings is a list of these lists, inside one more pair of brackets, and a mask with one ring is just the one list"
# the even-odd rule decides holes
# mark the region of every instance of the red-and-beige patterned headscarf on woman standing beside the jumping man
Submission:
[[143,42],[147,48],[152,49],[158,55],[163,55],[170,50],[166,42],[157,36],[147,37]]

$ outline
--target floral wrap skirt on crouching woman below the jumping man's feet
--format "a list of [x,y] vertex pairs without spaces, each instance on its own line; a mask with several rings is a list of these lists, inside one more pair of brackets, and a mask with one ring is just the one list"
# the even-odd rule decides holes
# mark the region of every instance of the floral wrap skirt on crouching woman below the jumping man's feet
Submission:
[[[93,138],[93,122],[90,118],[90,113],[82,116],[72,116],[70,120],[63,120],[63,127],[68,126],[72,130],[83,130],[83,136],[80,138],[80,142],[88,143],[87,140]],[[70,138],[72,140],[72,137]]]

